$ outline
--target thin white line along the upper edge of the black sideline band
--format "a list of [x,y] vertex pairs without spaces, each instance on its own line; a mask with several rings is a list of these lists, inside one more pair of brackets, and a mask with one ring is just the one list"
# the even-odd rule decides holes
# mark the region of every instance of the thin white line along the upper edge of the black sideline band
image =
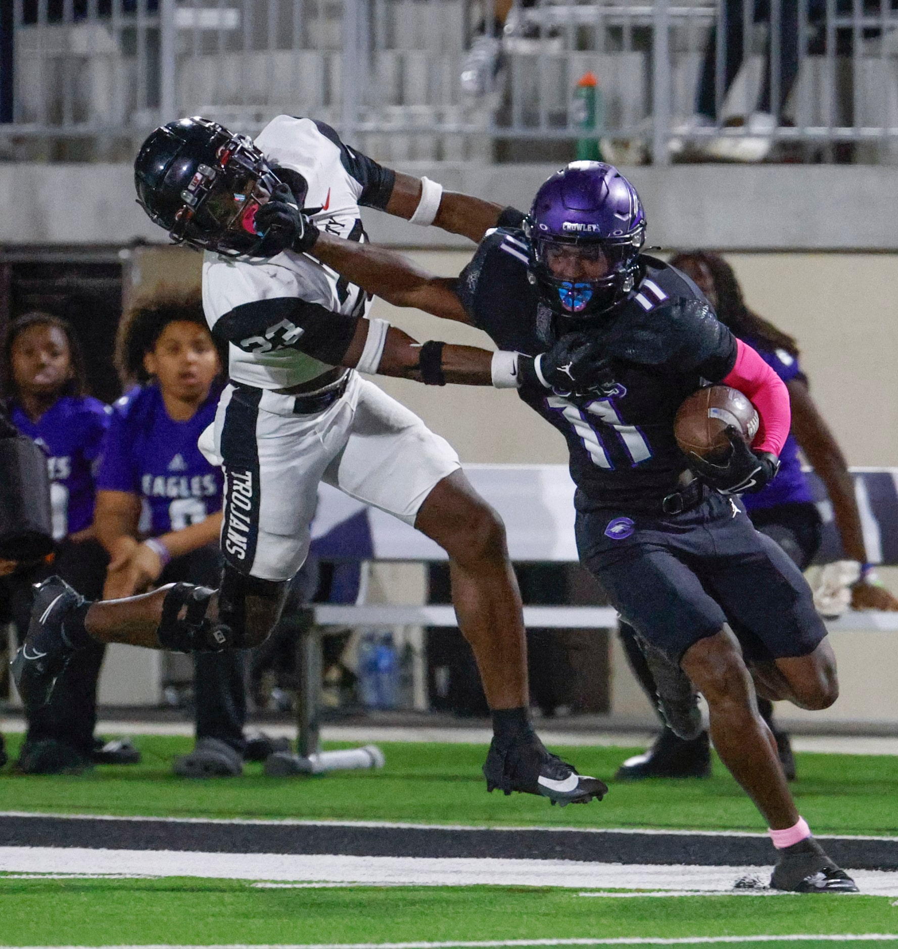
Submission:
[[[679,837],[763,837],[763,831],[752,830],[682,830],[665,828],[577,828],[539,827],[538,825],[502,825],[499,827],[477,824],[409,824],[399,821],[312,821],[298,818],[253,818],[253,817],[154,817],[152,814],[66,814],[51,810],[0,810],[0,817],[54,817],[72,821],[159,821],[163,824],[237,824],[259,827],[312,827],[312,828],[384,828],[387,830],[492,830],[496,833],[517,833],[520,830],[540,830],[545,833],[627,833],[649,836],[671,834]],[[898,837],[882,834],[814,834],[817,840],[885,840],[898,843]]]

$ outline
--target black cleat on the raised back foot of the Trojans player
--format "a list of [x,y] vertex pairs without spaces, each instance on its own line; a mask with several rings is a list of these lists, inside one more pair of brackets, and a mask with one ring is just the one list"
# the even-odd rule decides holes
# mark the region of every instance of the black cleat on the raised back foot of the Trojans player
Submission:
[[74,650],[65,640],[63,623],[84,597],[61,577],[48,577],[34,587],[34,603],[25,642],[10,662],[12,678],[28,711],[46,705],[56,679]]

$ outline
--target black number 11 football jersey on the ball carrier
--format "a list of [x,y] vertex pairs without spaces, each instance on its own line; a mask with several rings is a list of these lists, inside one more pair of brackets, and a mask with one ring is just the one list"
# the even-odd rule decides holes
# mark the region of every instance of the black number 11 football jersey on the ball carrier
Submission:
[[627,303],[607,317],[572,321],[540,301],[528,278],[524,233],[496,229],[462,271],[457,292],[500,349],[535,356],[584,329],[606,344],[613,382],[601,393],[519,390],[568,441],[578,510],[657,510],[677,490],[686,467],[673,432],[677,409],[702,384],[726,377],[737,351],[688,277],[643,254]]

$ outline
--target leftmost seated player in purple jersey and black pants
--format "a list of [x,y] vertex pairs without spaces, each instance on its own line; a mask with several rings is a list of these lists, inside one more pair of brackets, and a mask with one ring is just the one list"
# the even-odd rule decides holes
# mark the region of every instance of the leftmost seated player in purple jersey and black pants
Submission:
[[[2,597],[20,637],[28,629],[31,585],[58,573],[84,596],[103,590],[106,553],[91,527],[94,466],[109,410],[84,394],[84,360],[71,326],[49,313],[31,312],[9,327],[4,347],[6,407],[9,419],[47,453],[53,539],[49,564],[0,563]],[[28,712],[28,735],[19,757],[22,771],[81,770],[93,760],[127,763],[132,748],[95,741],[96,691],[104,647],[96,644],[65,670],[52,700]]]

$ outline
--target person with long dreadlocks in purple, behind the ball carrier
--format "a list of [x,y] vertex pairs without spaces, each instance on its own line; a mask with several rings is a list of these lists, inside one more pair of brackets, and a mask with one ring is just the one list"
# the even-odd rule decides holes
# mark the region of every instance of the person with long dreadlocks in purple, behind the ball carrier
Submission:
[[[866,562],[867,551],[854,496],[854,482],[845,456],[811,398],[808,379],[798,363],[797,343],[745,305],[736,274],[720,255],[688,251],[677,254],[670,263],[698,284],[717,311],[720,322],[740,340],[758,350],[764,362],[774,369],[789,390],[792,432],[779,456],[779,473],[763,491],[742,496],[742,504],[752,523],[761,533],[775,540],[799,568],[803,570],[811,564],[820,546],[822,524],[808,479],[801,470],[800,448],[829,493],[845,555],[860,565],[860,577],[851,588],[851,606],[854,609],[898,610],[898,600],[878,582],[875,568]],[[627,659],[654,705],[654,679],[633,632],[626,623],[621,624],[620,632]],[[758,709],[774,733],[783,770],[788,778],[793,779],[795,759],[788,735],[774,725],[773,704],[758,696]],[[710,774],[710,769],[707,734],[694,741],[683,741],[664,724],[655,745],[646,754],[625,762],[618,777],[704,776]]]

